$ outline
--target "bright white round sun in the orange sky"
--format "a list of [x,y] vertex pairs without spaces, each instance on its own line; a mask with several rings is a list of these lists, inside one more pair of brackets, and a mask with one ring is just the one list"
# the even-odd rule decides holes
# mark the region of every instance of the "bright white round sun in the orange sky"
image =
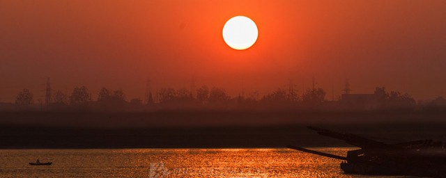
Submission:
[[233,49],[248,49],[258,35],[256,23],[245,16],[232,17],[223,26],[223,40]]

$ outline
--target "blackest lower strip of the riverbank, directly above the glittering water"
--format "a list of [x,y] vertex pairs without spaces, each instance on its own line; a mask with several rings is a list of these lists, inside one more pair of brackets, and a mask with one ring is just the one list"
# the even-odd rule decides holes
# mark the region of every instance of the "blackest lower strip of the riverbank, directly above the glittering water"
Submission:
[[[327,125],[386,143],[434,139],[446,141],[446,124]],[[80,129],[0,126],[0,149],[252,148],[351,147],[319,136],[305,125],[273,127],[164,127],[146,129]]]

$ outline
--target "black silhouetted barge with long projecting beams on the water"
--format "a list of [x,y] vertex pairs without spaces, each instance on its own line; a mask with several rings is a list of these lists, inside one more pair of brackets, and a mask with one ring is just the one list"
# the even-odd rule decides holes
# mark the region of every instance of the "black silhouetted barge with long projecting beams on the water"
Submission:
[[360,147],[337,156],[303,147],[288,145],[291,149],[343,160],[341,169],[357,175],[409,175],[446,178],[446,149],[441,142],[414,140],[387,144],[351,133],[339,133],[318,127],[308,127],[322,136],[345,140]]

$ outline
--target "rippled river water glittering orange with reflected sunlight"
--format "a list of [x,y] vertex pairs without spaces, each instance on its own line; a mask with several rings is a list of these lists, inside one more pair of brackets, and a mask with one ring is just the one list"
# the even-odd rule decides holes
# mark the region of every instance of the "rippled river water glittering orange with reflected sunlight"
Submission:
[[[29,165],[37,158],[53,164]],[[3,149],[0,177],[365,177],[344,174],[340,162],[286,148]]]

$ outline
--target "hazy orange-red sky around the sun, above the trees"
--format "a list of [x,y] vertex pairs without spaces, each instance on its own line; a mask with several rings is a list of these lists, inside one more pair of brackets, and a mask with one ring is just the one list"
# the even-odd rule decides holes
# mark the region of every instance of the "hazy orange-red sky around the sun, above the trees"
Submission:
[[[0,102],[87,86],[144,97],[162,87],[220,86],[261,95],[293,79],[340,95],[376,86],[446,97],[446,1],[0,1]],[[256,22],[253,47],[222,39],[227,19]]]

